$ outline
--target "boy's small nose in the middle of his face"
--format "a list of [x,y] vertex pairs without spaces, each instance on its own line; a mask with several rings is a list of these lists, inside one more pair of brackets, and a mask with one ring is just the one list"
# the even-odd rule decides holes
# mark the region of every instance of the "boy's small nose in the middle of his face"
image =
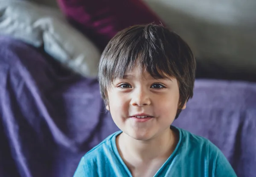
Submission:
[[150,93],[142,88],[137,88],[132,93],[131,105],[133,106],[146,106],[151,104]]

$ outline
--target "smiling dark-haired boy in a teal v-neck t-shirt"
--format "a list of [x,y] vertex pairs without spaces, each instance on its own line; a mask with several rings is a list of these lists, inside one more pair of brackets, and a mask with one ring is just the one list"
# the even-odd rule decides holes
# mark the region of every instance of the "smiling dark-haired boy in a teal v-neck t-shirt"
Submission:
[[154,24],[119,32],[102,54],[99,84],[121,131],[87,152],[74,177],[236,177],[209,140],[171,125],[194,81],[195,58],[179,35]]

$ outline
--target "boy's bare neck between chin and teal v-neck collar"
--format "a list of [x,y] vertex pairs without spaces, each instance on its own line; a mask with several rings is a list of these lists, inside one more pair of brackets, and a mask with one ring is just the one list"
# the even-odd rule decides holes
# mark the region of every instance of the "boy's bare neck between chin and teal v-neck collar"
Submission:
[[177,142],[175,137],[175,132],[172,129],[146,141],[136,140],[121,133],[118,140],[119,150],[123,158],[135,157],[136,161],[140,162],[168,158],[175,149]]

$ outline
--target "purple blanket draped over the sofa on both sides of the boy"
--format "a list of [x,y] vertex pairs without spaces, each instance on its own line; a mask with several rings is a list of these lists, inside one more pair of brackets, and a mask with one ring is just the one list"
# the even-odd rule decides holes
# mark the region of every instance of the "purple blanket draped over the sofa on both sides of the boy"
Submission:
[[[84,153],[118,130],[96,79],[0,37],[0,176],[71,177]],[[195,83],[174,125],[209,138],[239,177],[256,174],[256,84]]]

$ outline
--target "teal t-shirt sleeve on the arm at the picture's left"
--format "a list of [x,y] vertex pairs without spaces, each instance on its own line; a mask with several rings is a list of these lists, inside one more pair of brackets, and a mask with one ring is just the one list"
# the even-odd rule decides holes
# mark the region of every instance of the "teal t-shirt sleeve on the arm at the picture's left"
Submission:
[[82,157],[73,177],[98,177],[95,169],[93,162]]

